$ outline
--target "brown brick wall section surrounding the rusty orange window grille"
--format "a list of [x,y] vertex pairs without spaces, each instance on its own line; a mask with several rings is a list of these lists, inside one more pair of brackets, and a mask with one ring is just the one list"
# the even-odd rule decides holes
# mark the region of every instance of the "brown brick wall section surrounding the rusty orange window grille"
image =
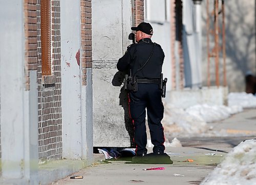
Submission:
[[37,0],[38,154],[40,160],[44,161],[57,160],[62,156],[60,0],[51,1],[52,75],[50,76],[42,76],[41,73],[40,3],[41,0]]

